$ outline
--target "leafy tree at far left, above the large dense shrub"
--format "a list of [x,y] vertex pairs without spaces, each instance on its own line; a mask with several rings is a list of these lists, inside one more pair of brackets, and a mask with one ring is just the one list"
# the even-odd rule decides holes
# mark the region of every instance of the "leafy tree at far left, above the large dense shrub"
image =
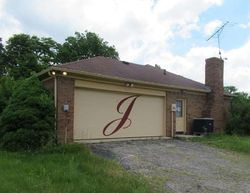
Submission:
[[1,64],[9,76],[26,78],[57,63],[58,47],[59,44],[51,38],[17,34],[7,41]]

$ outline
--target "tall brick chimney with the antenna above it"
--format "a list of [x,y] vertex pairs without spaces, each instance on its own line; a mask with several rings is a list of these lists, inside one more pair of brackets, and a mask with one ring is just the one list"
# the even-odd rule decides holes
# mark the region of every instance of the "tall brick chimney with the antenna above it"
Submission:
[[223,74],[222,59],[216,57],[206,59],[205,84],[211,89],[207,97],[207,115],[214,119],[215,132],[223,131],[225,127]]

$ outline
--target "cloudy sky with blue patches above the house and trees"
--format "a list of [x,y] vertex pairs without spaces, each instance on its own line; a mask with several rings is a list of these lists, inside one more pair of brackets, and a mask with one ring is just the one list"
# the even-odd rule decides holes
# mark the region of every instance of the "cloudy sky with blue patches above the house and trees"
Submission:
[[121,60],[158,64],[204,83],[205,58],[218,57],[220,35],[225,85],[250,93],[250,0],[0,0],[0,37],[52,37],[75,31],[99,34]]

